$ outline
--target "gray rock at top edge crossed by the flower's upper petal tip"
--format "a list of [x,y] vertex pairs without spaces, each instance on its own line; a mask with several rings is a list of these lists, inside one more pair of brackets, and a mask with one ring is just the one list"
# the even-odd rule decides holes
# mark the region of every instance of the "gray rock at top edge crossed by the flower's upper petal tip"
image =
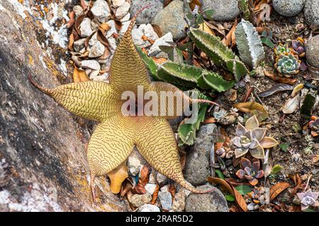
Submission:
[[151,4],[152,7],[142,11],[138,18],[136,18],[137,24],[151,23],[153,18],[159,11],[162,11],[164,0],[132,0],[132,6],[130,7],[130,14],[135,15],[143,6]]

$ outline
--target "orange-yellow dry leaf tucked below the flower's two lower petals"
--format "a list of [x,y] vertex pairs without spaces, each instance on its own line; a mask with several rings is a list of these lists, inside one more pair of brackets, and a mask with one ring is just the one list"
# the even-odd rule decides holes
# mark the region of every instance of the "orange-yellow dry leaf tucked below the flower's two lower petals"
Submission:
[[128,178],[128,167],[125,164],[121,164],[107,175],[111,181],[110,189],[112,193],[118,194],[121,191],[122,183],[126,178]]

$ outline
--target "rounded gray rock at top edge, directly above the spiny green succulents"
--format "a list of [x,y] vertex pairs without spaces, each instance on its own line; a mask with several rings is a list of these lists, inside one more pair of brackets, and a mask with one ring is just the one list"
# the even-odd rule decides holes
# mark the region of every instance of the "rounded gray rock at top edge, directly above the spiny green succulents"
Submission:
[[233,20],[240,15],[238,0],[203,0],[203,8],[213,9],[213,20]]

